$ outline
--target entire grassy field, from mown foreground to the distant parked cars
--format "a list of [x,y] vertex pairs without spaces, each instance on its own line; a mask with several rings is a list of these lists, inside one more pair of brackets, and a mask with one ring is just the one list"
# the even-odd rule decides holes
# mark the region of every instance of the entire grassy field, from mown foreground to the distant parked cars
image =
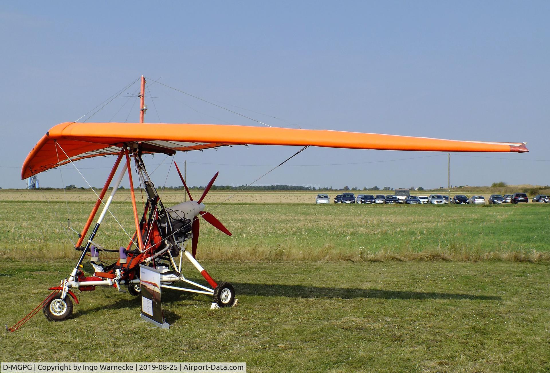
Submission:
[[[112,212],[131,234],[125,193]],[[550,206],[269,202],[286,195],[256,192],[250,198],[262,203],[214,209],[232,237],[201,225],[197,257],[234,284],[238,307],[210,310],[205,296],[167,291],[172,326],[162,331],[140,320],[139,299],[98,288],[79,294],[67,321],[40,313],[1,333],[0,360],[245,361],[251,372],[550,369]],[[167,193],[165,203],[182,196]],[[68,203],[59,192],[46,197],[0,193],[8,326],[69,274],[67,211],[79,230],[93,204],[82,192]],[[109,217],[98,241],[117,248],[127,237]],[[201,281],[190,265],[184,274]]]

